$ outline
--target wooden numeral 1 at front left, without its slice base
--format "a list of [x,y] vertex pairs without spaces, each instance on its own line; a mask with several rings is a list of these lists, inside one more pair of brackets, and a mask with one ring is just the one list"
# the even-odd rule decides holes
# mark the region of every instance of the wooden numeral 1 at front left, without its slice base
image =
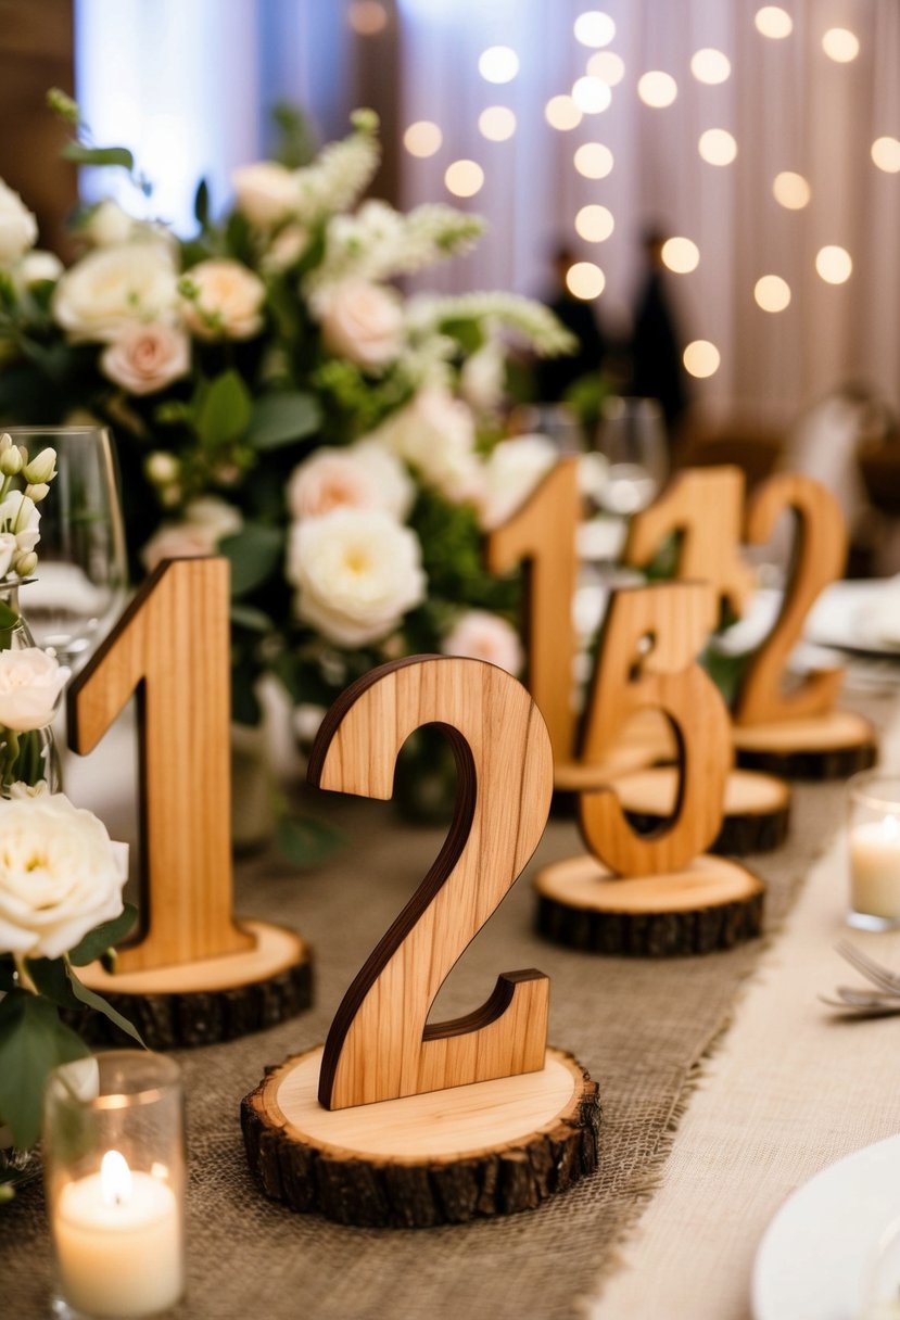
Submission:
[[94,750],[137,693],[141,928],[121,972],[236,953],[232,920],[228,562],[169,560],[69,692],[69,741]]

